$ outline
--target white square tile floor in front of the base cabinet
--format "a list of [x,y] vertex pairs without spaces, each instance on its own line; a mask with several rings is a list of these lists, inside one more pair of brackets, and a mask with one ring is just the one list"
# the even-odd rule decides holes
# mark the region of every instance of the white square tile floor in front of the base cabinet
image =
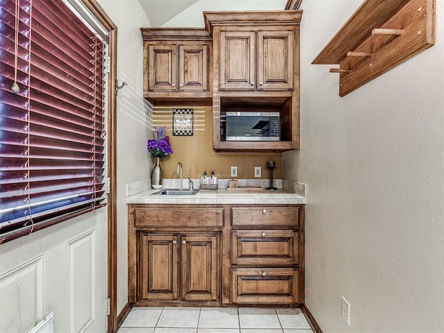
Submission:
[[118,333],[313,333],[300,309],[134,307]]

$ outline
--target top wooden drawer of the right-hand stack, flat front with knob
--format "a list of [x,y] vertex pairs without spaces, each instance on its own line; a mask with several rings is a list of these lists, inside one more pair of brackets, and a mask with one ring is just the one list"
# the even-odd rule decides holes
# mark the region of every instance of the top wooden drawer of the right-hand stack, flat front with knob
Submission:
[[299,207],[232,207],[233,226],[268,227],[285,226],[294,228],[299,224]]

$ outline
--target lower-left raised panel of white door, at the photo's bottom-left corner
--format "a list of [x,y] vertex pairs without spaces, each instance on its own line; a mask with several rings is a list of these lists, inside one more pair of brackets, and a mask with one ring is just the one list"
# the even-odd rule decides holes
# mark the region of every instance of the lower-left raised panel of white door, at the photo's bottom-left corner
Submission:
[[43,317],[43,258],[0,276],[0,332],[28,332]]

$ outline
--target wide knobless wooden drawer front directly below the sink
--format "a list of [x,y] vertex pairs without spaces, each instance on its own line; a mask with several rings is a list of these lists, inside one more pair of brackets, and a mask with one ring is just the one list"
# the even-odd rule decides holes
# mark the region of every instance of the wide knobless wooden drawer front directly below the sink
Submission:
[[135,209],[136,227],[223,227],[223,208]]

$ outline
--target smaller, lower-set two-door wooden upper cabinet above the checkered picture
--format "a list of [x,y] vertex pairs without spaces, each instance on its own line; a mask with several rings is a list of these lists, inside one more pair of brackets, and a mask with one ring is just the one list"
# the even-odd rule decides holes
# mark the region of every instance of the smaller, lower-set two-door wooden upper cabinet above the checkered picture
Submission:
[[155,105],[211,105],[210,34],[193,28],[141,30],[144,97]]

